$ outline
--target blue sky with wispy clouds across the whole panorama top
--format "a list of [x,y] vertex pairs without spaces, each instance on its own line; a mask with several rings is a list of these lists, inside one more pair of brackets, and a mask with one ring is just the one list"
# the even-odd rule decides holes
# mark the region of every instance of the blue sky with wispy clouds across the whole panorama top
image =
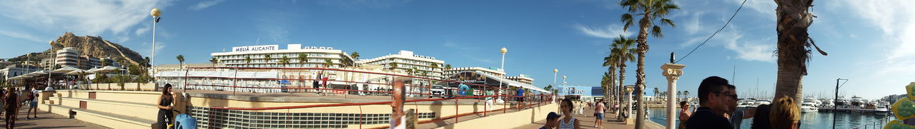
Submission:
[[[412,50],[455,67],[498,67],[499,48],[509,49],[510,75],[533,76],[534,85],[553,83],[552,70],[569,84],[598,86],[602,57],[612,38],[624,35],[614,0],[568,1],[4,1],[0,3],[0,58],[48,48],[48,40],[70,31],[101,36],[150,55],[152,18],[156,63],[207,62],[210,52],[236,46],[296,43],[326,46],[374,58]],[[649,38],[645,71],[649,94],[666,91],[661,65],[668,54],[683,58],[732,15],[740,0],[677,1],[663,27]],[[850,79],[846,96],[877,98],[903,93],[915,81],[915,5],[910,1],[815,1],[811,37],[829,56],[813,55],[804,92],[832,97],[835,79]],[[736,81],[741,96],[772,94],[777,66],[775,4],[750,0],[732,24],[680,63],[679,90],[695,96],[708,76]],[[285,48],[282,47],[282,48]],[[635,81],[635,62],[626,83]],[[736,75],[733,74],[735,72]],[[759,79],[759,87],[757,87]]]

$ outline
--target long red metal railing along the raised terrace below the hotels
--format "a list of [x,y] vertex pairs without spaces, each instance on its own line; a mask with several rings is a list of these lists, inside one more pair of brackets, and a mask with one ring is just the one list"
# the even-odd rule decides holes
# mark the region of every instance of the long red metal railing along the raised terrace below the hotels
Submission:
[[[492,112],[499,112],[499,111],[501,111],[502,113],[506,113],[506,111],[509,110],[510,108],[519,108],[518,106],[511,106],[511,107],[508,106],[508,104],[510,104],[510,103],[511,103],[512,105],[514,105],[514,103],[518,103],[518,101],[515,100],[514,98],[524,98],[525,100],[529,100],[529,101],[525,101],[525,102],[528,103],[528,104],[520,105],[520,106],[521,106],[520,108],[533,107],[533,106],[540,106],[540,105],[543,105],[544,103],[549,103],[549,102],[551,102],[551,101],[552,101],[552,98],[551,98],[551,97],[553,97],[553,95],[554,95],[554,94],[540,94],[540,95],[521,95],[521,96],[519,96],[518,94],[514,94],[513,91],[507,91],[507,90],[508,90],[507,88],[501,88],[501,87],[496,87],[496,86],[489,86],[489,85],[485,85],[485,84],[468,83],[468,82],[462,82],[462,81],[438,80],[438,79],[423,78],[423,77],[414,77],[414,76],[408,76],[408,75],[397,75],[397,74],[391,74],[391,73],[380,73],[380,72],[359,71],[359,70],[339,70],[339,69],[324,69],[324,68],[238,68],[238,67],[210,67],[210,68],[188,68],[188,69],[229,69],[229,70],[245,70],[245,69],[251,69],[251,70],[331,70],[331,71],[345,71],[345,72],[356,72],[356,73],[377,74],[377,75],[388,76],[388,77],[392,78],[392,80],[393,80],[393,77],[405,77],[405,78],[411,78],[411,79],[413,79],[414,81],[416,81],[416,80],[418,80],[418,81],[443,81],[443,82],[451,82],[451,83],[461,83],[461,84],[466,84],[466,85],[472,85],[472,86],[478,86],[478,87],[482,87],[482,88],[487,88],[487,90],[482,90],[482,91],[484,91],[484,92],[485,92],[485,91],[497,91],[497,92],[495,92],[495,94],[493,94],[493,95],[473,95],[473,93],[469,93],[468,95],[463,95],[463,94],[460,94],[460,93],[457,93],[457,92],[466,91],[466,90],[451,89],[451,91],[453,91],[453,92],[455,92],[455,93],[453,93],[453,94],[448,94],[448,93],[446,93],[446,94],[447,94],[447,96],[453,96],[453,97],[436,98],[436,99],[407,100],[407,101],[404,102],[404,106],[408,106],[407,102],[413,102],[414,106],[416,106],[416,102],[436,102],[436,101],[452,101],[452,100],[453,100],[454,103],[455,103],[455,104],[454,104],[454,106],[455,106],[455,113],[454,113],[453,115],[434,117],[436,113],[432,113],[433,117],[432,117],[431,119],[429,119],[429,117],[425,117],[425,118],[428,119],[428,120],[417,121],[416,124],[431,124],[431,123],[437,123],[437,122],[441,122],[441,121],[445,121],[445,120],[450,120],[450,119],[453,119],[453,120],[454,120],[454,123],[458,123],[458,122],[459,122],[459,121],[458,121],[458,118],[459,118],[459,117],[462,117],[462,116],[475,115],[475,114],[482,113],[482,114],[483,114],[482,117],[485,117],[485,116],[487,115],[487,113],[492,113]],[[189,70],[186,70],[186,73],[187,73],[187,71],[189,71]],[[216,84],[216,82],[213,82],[212,80],[207,80],[207,81],[210,81],[209,84],[207,84],[207,83],[188,83],[187,80],[188,80],[188,79],[191,79],[191,78],[194,78],[194,79],[214,79],[214,78],[216,78],[216,79],[222,79],[222,80],[232,80],[232,81],[234,81],[234,82],[232,82],[232,85],[227,85],[227,84]],[[238,89],[238,88],[242,88],[242,89],[278,89],[278,90],[287,90],[287,91],[293,91],[293,90],[299,91],[299,90],[303,90],[303,92],[317,92],[317,91],[325,91],[325,92],[326,92],[326,91],[342,92],[341,94],[343,94],[343,97],[344,97],[344,98],[347,98],[347,95],[348,95],[348,94],[359,94],[358,92],[373,92],[373,93],[377,93],[377,94],[379,94],[379,95],[389,95],[390,93],[392,93],[392,91],[365,91],[365,90],[352,90],[352,89],[350,89],[350,85],[351,85],[351,84],[375,84],[375,85],[382,85],[382,86],[391,86],[391,85],[393,85],[393,83],[378,83],[378,82],[374,82],[374,83],[373,83],[373,82],[360,82],[360,81],[339,81],[339,82],[346,82],[346,83],[348,83],[348,84],[346,85],[346,87],[345,87],[344,89],[333,89],[333,88],[329,88],[327,85],[325,85],[324,88],[310,88],[310,87],[308,87],[307,85],[292,85],[292,84],[285,84],[285,85],[284,85],[284,86],[288,86],[288,87],[252,87],[252,86],[238,86],[238,85],[236,85],[236,84],[238,84],[238,82],[237,82],[238,80],[262,80],[262,81],[278,81],[278,80],[286,80],[286,81],[328,81],[328,80],[316,80],[316,79],[278,79],[278,78],[277,78],[277,79],[242,79],[242,78],[227,78],[227,77],[188,76],[187,74],[185,74],[184,80],[185,80],[184,88],[187,88],[187,86],[207,86],[207,87],[211,87],[212,89],[215,89],[216,87],[231,88],[231,89],[233,89],[233,90],[232,90],[232,94],[234,94],[234,92],[237,91],[237,90],[234,90],[234,89]],[[201,80],[201,81],[202,81],[202,80]],[[393,81],[391,81],[391,82],[393,82]],[[434,94],[431,93],[431,91],[432,91],[432,89],[433,89],[433,88],[432,88],[432,85],[433,85],[433,84],[427,84],[427,85],[406,85],[406,84],[404,84],[405,87],[409,87],[407,90],[405,90],[405,91],[408,91],[408,92],[405,92],[405,93],[406,93],[406,94],[418,94],[418,95],[428,95],[428,96],[431,96],[431,95],[434,95]],[[414,88],[414,89],[411,89],[411,88]],[[423,90],[425,90],[425,91],[419,90],[419,91],[421,91],[421,92],[409,92],[409,91],[416,91],[415,89],[423,89]],[[356,92],[356,93],[354,93],[354,92]],[[446,92],[448,92],[448,91],[446,91]],[[470,91],[470,92],[473,92],[473,91]],[[509,94],[509,93],[506,93],[506,92],[512,92],[512,93]],[[531,92],[533,92],[533,91],[531,91]],[[480,93],[480,94],[485,94],[485,93]],[[492,100],[487,100],[487,101],[492,101],[492,103],[496,103],[497,98],[505,99],[505,100],[503,101],[503,103],[502,103],[502,106],[503,106],[503,107],[502,107],[501,109],[492,109],[492,110],[490,110],[490,108],[487,107],[487,106],[489,106],[489,105],[488,105],[488,104],[484,104],[484,109],[485,109],[485,110],[483,110],[482,112],[479,112],[479,111],[472,111],[472,112],[468,112],[468,113],[460,113],[459,110],[458,110],[458,107],[459,107],[458,105],[460,105],[458,102],[461,102],[461,101],[464,101],[464,102],[468,102],[468,101],[480,102],[480,101],[483,101],[483,100],[484,100],[483,98],[487,98],[487,97],[493,97]],[[430,98],[431,98],[431,97],[430,97]],[[204,112],[203,112],[203,113],[205,113],[205,115],[200,115],[200,114],[199,114],[199,115],[196,115],[196,116],[207,116],[208,118],[205,119],[206,121],[205,121],[205,122],[202,122],[202,121],[201,121],[201,122],[199,122],[199,124],[205,123],[206,126],[209,126],[210,128],[213,128],[213,127],[214,127],[214,126],[213,126],[213,124],[214,124],[214,122],[213,122],[213,121],[214,121],[214,118],[216,118],[216,117],[226,118],[226,117],[227,117],[227,116],[215,116],[215,115],[220,115],[220,114],[245,114],[245,113],[239,113],[239,112],[245,112],[245,111],[266,111],[266,110],[272,110],[272,111],[282,111],[282,110],[286,110],[286,113],[271,113],[271,114],[273,114],[273,115],[269,115],[269,116],[267,116],[267,117],[270,117],[270,118],[280,118],[280,119],[283,119],[283,120],[294,120],[294,121],[295,121],[295,120],[297,120],[296,118],[300,118],[300,117],[298,117],[298,116],[291,116],[291,115],[296,115],[296,114],[297,114],[297,113],[289,113],[289,111],[292,110],[292,109],[305,109],[305,108],[318,108],[318,107],[359,106],[359,113],[346,113],[346,114],[343,114],[343,115],[350,115],[350,116],[351,116],[351,115],[358,115],[358,120],[359,120],[358,123],[359,123],[359,125],[360,125],[360,128],[363,128],[363,127],[362,127],[363,121],[366,120],[366,117],[369,117],[369,116],[367,116],[367,114],[362,113],[362,112],[363,112],[363,111],[362,111],[362,106],[363,106],[363,105],[390,104],[390,103],[392,103],[392,102],[393,102],[393,101],[391,101],[390,99],[387,99],[386,101],[382,101],[382,102],[353,102],[353,103],[332,103],[332,104],[315,104],[315,105],[291,105],[291,106],[276,106],[276,107],[218,107],[218,106],[212,106],[212,107],[194,107],[194,109],[195,109],[195,110],[204,110],[204,109],[205,109],[205,110],[208,110],[208,111],[204,111]],[[444,106],[444,105],[443,105],[443,106]],[[416,110],[414,110],[414,111],[415,111],[416,113],[418,113],[418,111],[416,111]],[[219,112],[219,113],[218,113],[218,112]],[[428,113],[425,113],[425,114],[428,114]],[[285,116],[284,116],[284,115],[285,115]],[[390,114],[389,114],[389,115],[390,115]],[[245,118],[249,117],[249,115],[242,115],[242,116],[245,116]],[[425,115],[425,116],[427,116],[427,115]],[[253,116],[252,116],[252,117],[253,117]],[[378,118],[378,117],[375,117],[375,118]],[[228,118],[227,118],[227,119],[228,119]],[[232,118],[232,119],[235,119],[235,118]],[[353,116],[353,117],[350,117],[350,119],[356,119],[356,117]],[[204,120],[204,119],[199,119],[199,120]],[[375,122],[377,122],[377,119],[375,119],[375,120],[376,120]],[[217,120],[217,121],[222,121],[222,120]],[[284,123],[284,124],[285,124],[285,123],[293,123],[293,122],[280,122],[280,123]],[[342,124],[342,125],[343,125],[343,126],[346,126],[347,124],[352,124],[352,122],[346,123],[346,124]],[[377,123],[368,123],[368,124],[377,124]],[[263,124],[262,124],[262,125],[263,125]],[[219,125],[217,125],[217,126],[219,126]],[[272,127],[276,127],[276,126],[272,126]],[[337,126],[337,127],[339,127],[339,126]],[[376,127],[376,128],[386,128],[386,126],[381,126],[381,127]]]

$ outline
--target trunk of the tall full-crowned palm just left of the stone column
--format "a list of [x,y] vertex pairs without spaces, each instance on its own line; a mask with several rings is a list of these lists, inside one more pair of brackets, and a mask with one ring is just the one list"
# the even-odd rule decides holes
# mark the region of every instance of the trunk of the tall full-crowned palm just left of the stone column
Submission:
[[645,53],[648,52],[648,43],[646,42],[646,38],[648,38],[648,27],[650,27],[650,24],[648,23],[649,14],[647,14],[647,13],[648,12],[646,12],[645,16],[642,17],[640,20],[641,30],[639,30],[640,31],[639,37],[638,37],[639,39],[636,40],[636,42],[639,43],[638,47],[636,48],[636,52],[639,54],[639,59],[637,60],[638,65],[635,70],[635,79],[636,79],[635,94],[636,94],[636,109],[640,109],[640,110],[637,110],[639,112],[636,113],[636,119],[635,119],[635,128],[636,129],[645,128],[645,109],[643,109],[644,106],[642,106],[642,105],[644,104],[644,102],[642,102],[641,97],[642,97],[642,91],[645,90]]

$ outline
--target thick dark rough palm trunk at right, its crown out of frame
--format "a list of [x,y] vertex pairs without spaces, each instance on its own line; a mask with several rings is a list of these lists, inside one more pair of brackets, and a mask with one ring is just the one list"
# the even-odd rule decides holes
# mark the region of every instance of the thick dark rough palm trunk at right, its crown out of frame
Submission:
[[807,34],[807,27],[813,24],[813,14],[807,9],[813,6],[813,0],[775,0],[775,3],[778,5],[775,8],[776,21],[779,21],[775,28],[779,35],[775,97],[791,96],[794,100],[802,100],[802,80],[807,75],[807,62],[812,53],[810,47],[816,48],[823,56],[827,55]]

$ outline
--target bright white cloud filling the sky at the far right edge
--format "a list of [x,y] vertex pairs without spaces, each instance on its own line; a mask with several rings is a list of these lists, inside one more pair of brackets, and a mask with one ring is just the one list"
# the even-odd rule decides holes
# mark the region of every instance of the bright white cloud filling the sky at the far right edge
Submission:
[[[865,27],[877,27],[883,34],[874,38],[875,48],[870,52],[880,53],[885,57],[867,60],[865,67],[856,73],[859,81],[867,85],[889,87],[894,89],[863,89],[875,93],[900,93],[895,88],[909,84],[915,77],[915,1],[842,1],[829,8],[838,8],[847,13],[847,18],[861,18]],[[854,35],[853,35],[854,36]],[[888,92],[890,90],[892,92]]]

